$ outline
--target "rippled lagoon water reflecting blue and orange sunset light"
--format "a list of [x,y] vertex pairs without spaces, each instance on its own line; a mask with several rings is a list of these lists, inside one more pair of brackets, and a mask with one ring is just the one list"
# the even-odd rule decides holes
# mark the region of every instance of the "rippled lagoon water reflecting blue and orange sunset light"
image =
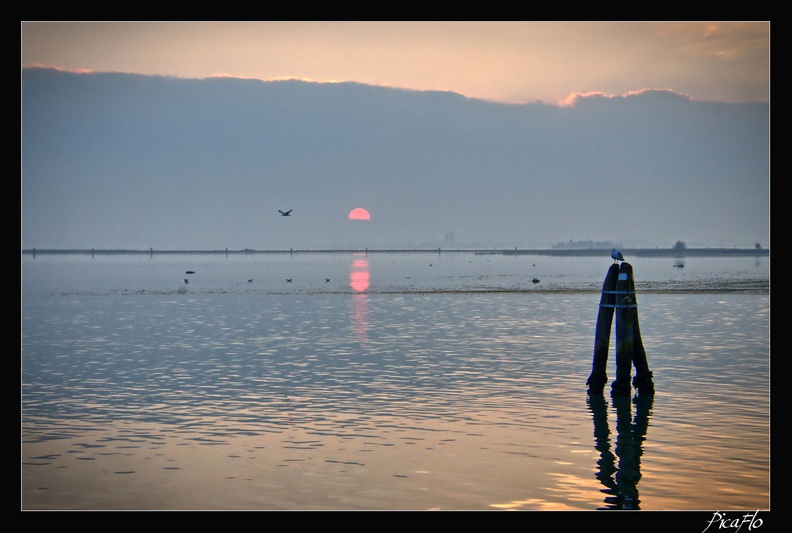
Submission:
[[767,509],[768,259],[631,264],[650,405],[607,258],[23,256],[23,508]]

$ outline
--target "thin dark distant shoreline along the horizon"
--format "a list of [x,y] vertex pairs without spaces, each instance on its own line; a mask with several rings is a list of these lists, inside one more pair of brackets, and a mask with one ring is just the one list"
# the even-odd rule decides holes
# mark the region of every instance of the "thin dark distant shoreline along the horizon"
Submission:
[[[625,256],[634,257],[692,257],[692,256],[769,256],[769,249],[756,248],[622,248]],[[551,255],[551,256],[610,256],[610,250],[599,248],[585,249],[502,249],[502,248],[339,248],[339,249],[276,249],[276,250],[123,250],[123,249],[22,249],[22,255],[179,255],[179,254],[320,254],[320,253],[472,253],[490,255]]]

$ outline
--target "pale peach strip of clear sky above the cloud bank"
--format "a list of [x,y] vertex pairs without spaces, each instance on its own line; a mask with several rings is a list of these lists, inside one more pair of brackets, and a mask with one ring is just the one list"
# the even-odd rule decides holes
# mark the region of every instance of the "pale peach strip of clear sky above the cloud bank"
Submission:
[[565,105],[671,90],[769,102],[770,23],[23,21],[22,67],[354,81]]

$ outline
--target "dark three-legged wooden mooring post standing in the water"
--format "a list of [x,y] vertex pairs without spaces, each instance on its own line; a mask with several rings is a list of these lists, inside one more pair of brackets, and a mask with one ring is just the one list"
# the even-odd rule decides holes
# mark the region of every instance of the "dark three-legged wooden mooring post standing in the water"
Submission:
[[606,367],[610,348],[610,331],[616,315],[616,380],[611,385],[612,396],[630,394],[630,373],[635,366],[633,386],[639,393],[654,394],[653,375],[649,370],[646,350],[638,324],[638,302],[632,265],[614,263],[602,284],[597,328],[594,338],[594,361],[586,384],[589,394],[602,394],[608,381]]

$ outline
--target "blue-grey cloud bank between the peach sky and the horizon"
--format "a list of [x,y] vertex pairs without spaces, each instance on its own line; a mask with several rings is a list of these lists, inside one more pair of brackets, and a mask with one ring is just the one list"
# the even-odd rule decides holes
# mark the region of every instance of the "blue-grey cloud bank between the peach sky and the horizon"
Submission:
[[22,71],[23,248],[768,246],[769,172],[766,103]]

